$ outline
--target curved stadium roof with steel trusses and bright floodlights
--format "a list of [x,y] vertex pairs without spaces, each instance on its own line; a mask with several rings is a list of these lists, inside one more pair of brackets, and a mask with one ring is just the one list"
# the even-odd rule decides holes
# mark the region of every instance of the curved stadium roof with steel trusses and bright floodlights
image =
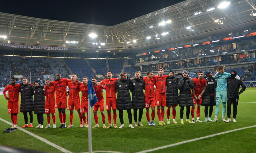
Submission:
[[[75,52],[138,52],[196,38],[207,38],[225,31],[241,31],[241,28],[256,25],[255,0],[230,0],[229,5],[225,4],[228,5],[227,8],[218,8],[222,2],[186,0],[115,26],[0,13],[0,35],[7,36],[5,40],[0,39],[0,42],[7,43],[9,40],[12,44],[68,47]],[[89,34],[92,33],[97,37],[91,38]]]

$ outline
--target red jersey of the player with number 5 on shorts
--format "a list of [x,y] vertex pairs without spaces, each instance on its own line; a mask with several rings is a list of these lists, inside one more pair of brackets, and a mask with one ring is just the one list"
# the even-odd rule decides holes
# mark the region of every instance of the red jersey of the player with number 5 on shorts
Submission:
[[[67,82],[71,79],[61,78],[60,81],[52,81],[51,85],[55,87],[56,99],[67,98]],[[46,85],[44,87],[46,89]]]

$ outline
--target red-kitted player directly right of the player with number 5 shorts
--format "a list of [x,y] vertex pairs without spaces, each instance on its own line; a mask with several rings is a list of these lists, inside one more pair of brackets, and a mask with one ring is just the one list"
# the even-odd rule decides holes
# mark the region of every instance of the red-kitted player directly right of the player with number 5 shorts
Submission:
[[78,82],[76,81],[75,74],[71,76],[71,82],[67,82],[67,86],[69,89],[68,110],[70,111],[70,114],[69,114],[70,124],[68,125],[68,128],[73,126],[74,107],[75,107],[75,110],[77,110],[77,113],[79,115],[80,127],[83,127],[83,119],[80,111],[81,109],[80,96],[79,96],[80,90],[79,90]]

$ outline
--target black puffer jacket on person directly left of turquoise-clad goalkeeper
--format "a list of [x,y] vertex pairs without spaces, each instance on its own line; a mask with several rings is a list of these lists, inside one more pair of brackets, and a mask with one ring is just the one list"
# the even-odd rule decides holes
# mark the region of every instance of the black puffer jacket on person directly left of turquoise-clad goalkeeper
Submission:
[[[205,89],[204,94],[202,95],[202,106],[210,105],[210,94],[214,95],[214,106],[216,105],[215,96],[216,96],[216,86],[217,83],[214,78],[205,78],[207,81],[207,87]],[[211,89],[210,89],[211,88]],[[211,93],[210,93],[211,91]]]

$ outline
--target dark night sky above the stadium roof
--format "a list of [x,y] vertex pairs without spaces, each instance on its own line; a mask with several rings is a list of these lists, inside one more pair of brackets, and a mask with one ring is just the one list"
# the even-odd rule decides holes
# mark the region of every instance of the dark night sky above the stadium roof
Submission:
[[4,1],[0,12],[41,19],[114,26],[183,0]]

